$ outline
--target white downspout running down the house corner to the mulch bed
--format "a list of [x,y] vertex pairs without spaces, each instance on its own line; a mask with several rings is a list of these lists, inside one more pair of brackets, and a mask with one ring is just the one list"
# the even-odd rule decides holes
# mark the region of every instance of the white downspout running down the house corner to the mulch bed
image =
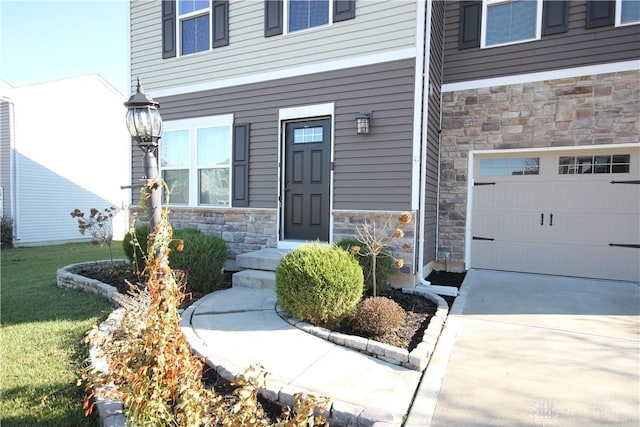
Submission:
[[[427,206],[427,152],[428,152],[428,130],[429,130],[429,92],[430,92],[430,73],[429,67],[431,60],[431,18],[433,14],[432,1],[427,1],[427,9],[424,20],[424,64],[423,64],[423,78],[422,78],[422,125],[420,135],[420,147],[421,147],[421,159],[420,159],[420,228],[419,228],[419,241],[424,239],[425,233],[425,219],[426,219],[426,206]],[[444,24],[443,24],[444,25]],[[438,134],[438,138],[440,135]],[[440,150],[438,150],[438,157],[440,156]],[[439,162],[440,159],[438,159]],[[439,163],[438,163],[439,165]],[[439,166],[438,166],[439,167]],[[439,174],[438,174],[439,175]],[[436,218],[436,221],[438,218]],[[436,235],[437,238],[437,235]],[[457,289],[450,286],[436,286],[432,285],[425,278],[424,273],[424,243],[421,243],[418,248],[418,273],[417,273],[419,287],[426,288],[427,291],[440,295],[457,296]]]

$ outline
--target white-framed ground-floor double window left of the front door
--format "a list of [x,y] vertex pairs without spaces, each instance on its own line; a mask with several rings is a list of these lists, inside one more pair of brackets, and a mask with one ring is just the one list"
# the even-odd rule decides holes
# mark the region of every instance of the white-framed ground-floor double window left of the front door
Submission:
[[230,206],[232,126],[232,115],[165,122],[160,169],[171,205]]

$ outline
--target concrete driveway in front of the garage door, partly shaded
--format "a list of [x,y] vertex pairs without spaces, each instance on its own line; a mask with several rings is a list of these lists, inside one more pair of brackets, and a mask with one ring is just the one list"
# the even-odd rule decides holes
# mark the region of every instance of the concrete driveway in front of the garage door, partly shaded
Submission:
[[470,270],[405,427],[640,425],[640,284]]

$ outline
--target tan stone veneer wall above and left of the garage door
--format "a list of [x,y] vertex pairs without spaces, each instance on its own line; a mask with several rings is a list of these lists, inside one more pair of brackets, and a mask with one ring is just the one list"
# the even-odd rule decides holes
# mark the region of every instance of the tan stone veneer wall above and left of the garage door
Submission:
[[640,71],[442,95],[439,258],[464,262],[470,150],[637,143]]

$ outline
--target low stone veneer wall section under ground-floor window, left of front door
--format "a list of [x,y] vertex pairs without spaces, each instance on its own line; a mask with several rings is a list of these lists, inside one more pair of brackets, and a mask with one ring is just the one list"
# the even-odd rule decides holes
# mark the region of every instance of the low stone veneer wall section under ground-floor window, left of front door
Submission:
[[170,209],[173,228],[197,228],[205,234],[221,237],[229,246],[229,256],[264,248],[275,248],[275,209]]

